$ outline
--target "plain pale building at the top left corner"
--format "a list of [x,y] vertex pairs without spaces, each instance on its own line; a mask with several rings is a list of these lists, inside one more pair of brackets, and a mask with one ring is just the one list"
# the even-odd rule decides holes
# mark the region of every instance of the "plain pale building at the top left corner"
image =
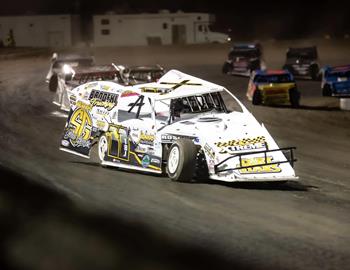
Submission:
[[67,47],[81,39],[77,15],[0,16],[0,40],[12,29],[17,47]]

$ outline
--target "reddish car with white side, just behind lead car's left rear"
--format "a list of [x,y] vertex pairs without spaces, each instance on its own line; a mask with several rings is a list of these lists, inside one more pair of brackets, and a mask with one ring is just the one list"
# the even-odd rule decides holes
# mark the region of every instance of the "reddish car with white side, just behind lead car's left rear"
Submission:
[[115,64],[95,65],[73,68],[65,66],[64,74],[57,75],[57,90],[53,97],[53,103],[63,111],[70,110],[68,92],[75,87],[92,81],[114,81],[125,84],[121,74],[122,68]]

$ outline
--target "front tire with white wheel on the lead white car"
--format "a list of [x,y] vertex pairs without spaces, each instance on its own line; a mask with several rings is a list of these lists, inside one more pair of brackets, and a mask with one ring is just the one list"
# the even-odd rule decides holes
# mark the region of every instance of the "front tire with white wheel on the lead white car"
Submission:
[[170,147],[166,172],[177,182],[190,182],[196,170],[197,147],[190,139],[178,139]]

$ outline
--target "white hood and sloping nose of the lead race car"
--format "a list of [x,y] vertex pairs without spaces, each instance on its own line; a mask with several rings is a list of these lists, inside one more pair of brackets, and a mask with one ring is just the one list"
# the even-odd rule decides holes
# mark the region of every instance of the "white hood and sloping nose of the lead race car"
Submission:
[[[206,155],[212,179],[270,181],[279,177],[295,178],[294,170],[289,163],[266,165],[276,161],[285,162],[286,157],[281,151],[268,152],[279,147],[266,128],[249,114],[233,112],[202,115],[169,125],[161,134],[163,142],[185,137],[200,145]],[[264,154],[266,150],[267,153]],[[266,157],[265,163],[264,157]],[[241,168],[242,165],[244,167],[256,164],[264,165]]]

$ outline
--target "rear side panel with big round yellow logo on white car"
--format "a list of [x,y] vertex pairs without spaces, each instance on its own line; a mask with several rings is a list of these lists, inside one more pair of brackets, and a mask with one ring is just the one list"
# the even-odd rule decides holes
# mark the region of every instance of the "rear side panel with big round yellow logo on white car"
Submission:
[[63,131],[60,150],[89,158],[95,133],[88,111],[79,107],[71,110]]

